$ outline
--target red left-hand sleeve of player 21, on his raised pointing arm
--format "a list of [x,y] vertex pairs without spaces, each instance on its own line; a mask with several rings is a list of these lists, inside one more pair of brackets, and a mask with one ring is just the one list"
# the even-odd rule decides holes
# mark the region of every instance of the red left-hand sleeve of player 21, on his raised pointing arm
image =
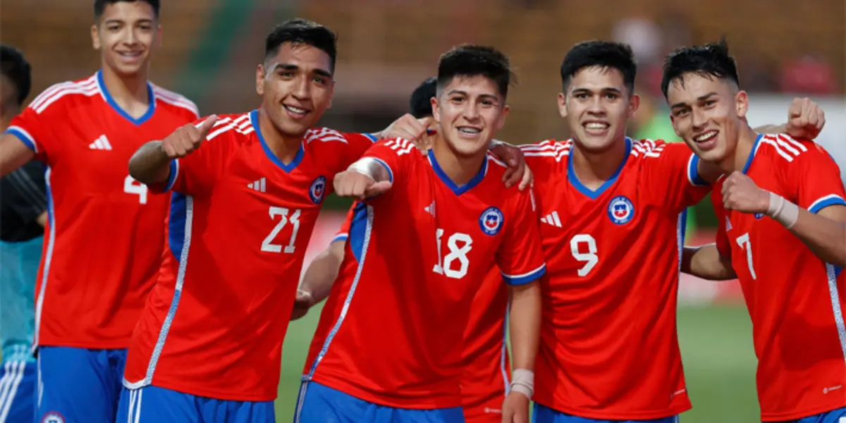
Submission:
[[[195,121],[195,125],[201,124],[206,118]],[[219,120],[215,126],[225,124]],[[206,141],[200,148],[185,157],[173,159],[170,162],[168,180],[164,184],[151,185],[154,192],[167,192],[170,190],[184,195],[206,195],[214,187],[217,175],[222,172],[228,157],[228,147],[232,145],[228,137],[234,131],[218,132],[211,129]]]

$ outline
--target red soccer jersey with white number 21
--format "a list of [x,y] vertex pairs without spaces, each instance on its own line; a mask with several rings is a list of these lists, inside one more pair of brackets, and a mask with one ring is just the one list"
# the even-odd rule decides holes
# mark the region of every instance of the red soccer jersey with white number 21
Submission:
[[332,178],[371,146],[310,129],[281,162],[258,111],[222,116],[173,161],[162,269],[129,347],[124,384],[209,398],[277,396],[305,247]]

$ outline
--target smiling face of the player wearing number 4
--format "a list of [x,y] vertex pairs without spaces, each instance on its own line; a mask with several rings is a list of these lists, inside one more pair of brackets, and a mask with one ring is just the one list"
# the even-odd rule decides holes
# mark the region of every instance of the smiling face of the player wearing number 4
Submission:
[[103,66],[120,75],[146,69],[161,36],[156,13],[146,2],[109,3],[91,26],[91,42],[101,52]]

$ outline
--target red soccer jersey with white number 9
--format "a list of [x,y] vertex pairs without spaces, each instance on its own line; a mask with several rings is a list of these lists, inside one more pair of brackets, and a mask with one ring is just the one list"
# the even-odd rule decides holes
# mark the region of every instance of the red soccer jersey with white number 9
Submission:
[[535,173],[547,277],[535,401],[600,420],[690,408],[676,336],[684,210],[708,193],[684,144],[626,139],[623,163],[589,190],[573,141],[522,146]]

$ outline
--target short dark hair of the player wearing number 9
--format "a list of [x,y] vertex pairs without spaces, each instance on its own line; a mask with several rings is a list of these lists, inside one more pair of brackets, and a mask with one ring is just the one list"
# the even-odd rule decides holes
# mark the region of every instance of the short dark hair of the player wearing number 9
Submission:
[[600,67],[617,69],[623,74],[623,83],[634,92],[634,77],[637,75],[637,63],[628,44],[613,41],[583,41],[573,46],[561,62],[561,85],[567,91],[573,76],[581,69]]

